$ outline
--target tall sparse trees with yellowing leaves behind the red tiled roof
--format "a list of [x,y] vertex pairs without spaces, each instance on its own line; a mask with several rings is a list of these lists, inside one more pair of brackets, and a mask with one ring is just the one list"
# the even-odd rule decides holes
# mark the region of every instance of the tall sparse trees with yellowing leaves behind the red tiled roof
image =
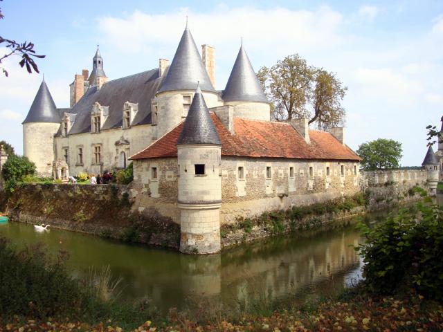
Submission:
[[309,118],[309,124],[315,122],[323,130],[344,124],[345,109],[341,101],[347,87],[334,73],[309,66],[296,54],[271,68],[260,68],[257,77],[271,100],[275,120]]

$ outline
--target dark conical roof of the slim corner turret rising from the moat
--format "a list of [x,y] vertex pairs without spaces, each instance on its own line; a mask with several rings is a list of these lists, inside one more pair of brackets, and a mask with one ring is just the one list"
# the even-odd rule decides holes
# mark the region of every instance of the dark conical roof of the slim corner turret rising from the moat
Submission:
[[210,118],[208,107],[197,85],[194,98],[188,111],[183,130],[177,140],[177,145],[214,144],[221,145],[219,134]]

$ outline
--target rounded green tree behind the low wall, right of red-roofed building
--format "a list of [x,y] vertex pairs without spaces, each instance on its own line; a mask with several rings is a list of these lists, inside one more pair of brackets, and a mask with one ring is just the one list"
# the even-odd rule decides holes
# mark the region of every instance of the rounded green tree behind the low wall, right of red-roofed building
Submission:
[[363,143],[356,151],[363,159],[361,165],[367,170],[399,167],[399,160],[403,156],[401,152],[401,142],[386,138]]

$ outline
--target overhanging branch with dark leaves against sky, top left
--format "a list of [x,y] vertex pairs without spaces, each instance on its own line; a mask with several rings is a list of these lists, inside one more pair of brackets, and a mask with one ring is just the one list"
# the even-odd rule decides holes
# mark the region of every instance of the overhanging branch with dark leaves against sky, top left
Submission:
[[[3,1],[3,0],[0,0]],[[0,8],[0,19],[3,19],[5,16],[1,12]],[[5,44],[5,45],[1,45]],[[19,65],[23,68],[26,66],[26,70],[28,73],[33,73],[33,71],[39,73],[39,68],[37,67],[37,64],[35,63],[33,57],[38,57],[40,59],[46,57],[46,55],[37,55],[35,54],[34,50],[34,44],[32,42],[23,42],[19,43],[16,42],[13,39],[7,39],[0,36],[0,46],[6,46],[9,48],[9,53],[5,53],[3,56],[0,56],[0,64],[3,61],[3,59],[6,59],[7,57],[10,57],[11,55],[20,55],[21,60],[19,62]],[[1,70],[3,71],[3,74],[8,77],[8,71],[6,71],[5,68],[0,66]]]

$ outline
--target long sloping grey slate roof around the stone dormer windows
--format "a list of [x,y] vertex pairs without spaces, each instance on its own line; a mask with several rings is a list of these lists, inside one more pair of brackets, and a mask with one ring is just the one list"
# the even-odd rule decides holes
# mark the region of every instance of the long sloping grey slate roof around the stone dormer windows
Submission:
[[76,114],[69,134],[91,131],[91,110],[95,102],[103,107],[109,107],[109,116],[102,125],[102,129],[122,127],[123,104],[128,101],[138,104],[138,112],[132,121],[132,126],[151,123],[151,99],[154,98],[160,83],[159,69],[156,68],[111,80],[103,84],[100,90],[97,89],[97,86],[89,87],[69,111],[69,113]]

